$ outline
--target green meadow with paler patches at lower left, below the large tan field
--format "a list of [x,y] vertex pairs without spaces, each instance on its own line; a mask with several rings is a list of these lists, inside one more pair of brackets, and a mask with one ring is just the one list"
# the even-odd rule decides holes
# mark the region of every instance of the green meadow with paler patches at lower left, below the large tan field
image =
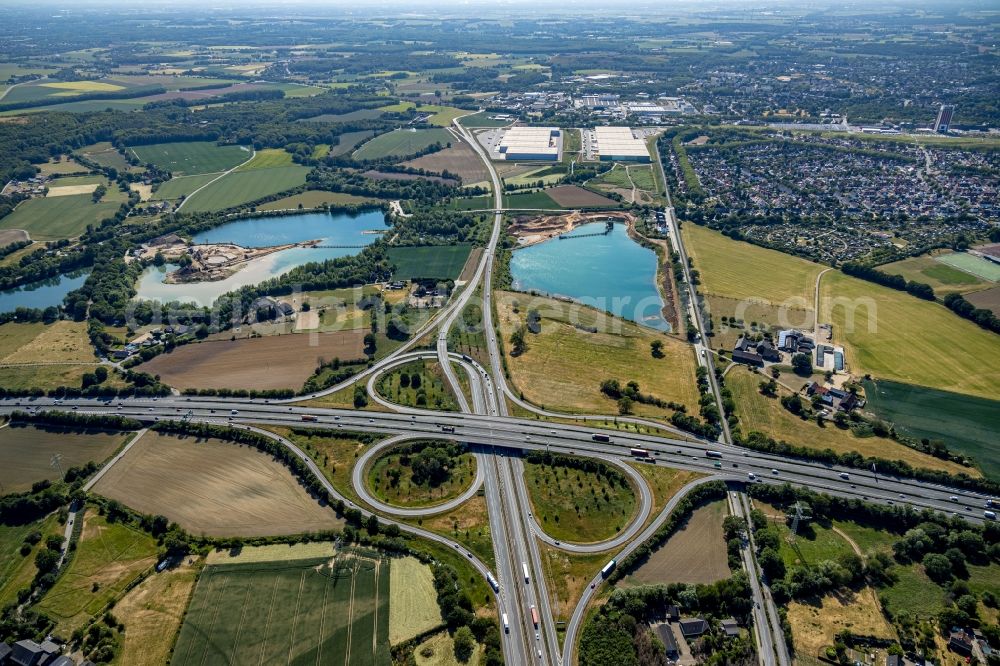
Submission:
[[69,635],[101,612],[136,576],[156,564],[156,540],[88,508],[69,567],[37,608]]

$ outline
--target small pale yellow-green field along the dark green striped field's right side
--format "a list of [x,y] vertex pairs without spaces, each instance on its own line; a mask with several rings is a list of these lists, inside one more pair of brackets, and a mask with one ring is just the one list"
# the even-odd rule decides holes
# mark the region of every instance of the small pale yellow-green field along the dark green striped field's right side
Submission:
[[443,622],[431,568],[415,557],[393,559],[389,564],[389,644],[408,641]]

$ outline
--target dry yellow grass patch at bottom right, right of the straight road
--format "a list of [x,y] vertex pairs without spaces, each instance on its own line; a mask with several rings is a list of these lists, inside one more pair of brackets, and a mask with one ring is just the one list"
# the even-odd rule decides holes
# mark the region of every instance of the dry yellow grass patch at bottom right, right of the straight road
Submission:
[[788,604],[788,622],[792,625],[795,652],[817,657],[836,635],[844,631],[896,639],[896,633],[876,606],[872,591],[850,590],[823,597],[819,606],[792,601]]

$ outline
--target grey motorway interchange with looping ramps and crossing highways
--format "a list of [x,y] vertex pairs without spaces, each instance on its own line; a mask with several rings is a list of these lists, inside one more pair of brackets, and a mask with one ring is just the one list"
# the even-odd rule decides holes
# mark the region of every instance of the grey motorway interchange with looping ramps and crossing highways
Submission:
[[[491,580],[497,612],[505,625],[502,631],[505,661],[508,664],[572,664],[574,647],[584,619],[587,605],[600,592],[602,578],[597,575],[584,588],[582,598],[564,627],[564,640],[560,641],[551,607],[551,595],[546,589],[546,576],[541,558],[541,544],[547,548],[562,549],[570,553],[618,553],[619,559],[637,548],[666,520],[670,511],[688,491],[701,483],[713,480],[731,482],[733,492],[728,501],[736,515],[746,515],[749,510],[746,495],[738,490],[747,483],[769,483],[807,487],[830,495],[863,499],[882,504],[908,505],[915,509],[930,509],[955,513],[970,520],[983,518],[985,495],[960,491],[937,484],[883,476],[873,471],[840,468],[816,462],[794,460],[782,456],[760,453],[733,446],[723,419],[720,441],[697,439],[658,422],[638,418],[617,418],[617,423],[633,426],[633,430],[595,430],[587,427],[585,420],[601,421],[610,425],[613,417],[560,414],[541,410],[521,400],[507,385],[503,370],[500,342],[493,322],[492,276],[497,245],[502,236],[503,206],[500,179],[482,146],[457,120],[453,132],[461,136],[482,158],[493,181],[495,215],[489,242],[474,277],[464,285],[442,309],[438,316],[414,332],[410,340],[393,354],[372,365],[364,372],[340,384],[293,400],[248,400],[231,398],[203,398],[171,396],[159,399],[67,399],[51,398],[0,400],[0,413],[27,409],[61,409],[78,413],[117,414],[142,421],[187,418],[198,422],[229,423],[234,427],[248,428],[279,441],[301,458],[311,472],[334,498],[354,506],[324,476],[316,463],[291,441],[262,429],[260,426],[296,426],[345,431],[381,433],[387,439],[373,446],[358,461],[352,478],[353,489],[368,506],[358,507],[364,514],[374,508],[383,523],[398,524],[400,529],[432,539],[461,552],[484,578]],[[662,165],[660,166],[662,169]],[[672,207],[665,211],[671,229],[674,249],[682,257],[687,271],[686,252]],[[687,280],[687,301],[692,322],[704,331],[697,295]],[[476,360],[449,352],[448,335],[451,327],[462,315],[472,296],[481,294],[483,333],[487,342],[488,366]],[[434,349],[414,348],[436,329]],[[722,411],[721,396],[715,382],[713,355],[700,340],[695,342],[695,352],[700,364],[709,370],[710,387]],[[395,405],[378,395],[377,379],[384,372],[416,359],[436,358],[444,369],[445,377],[457,397],[461,413],[434,412]],[[469,398],[463,390],[458,373],[467,378]],[[391,411],[356,411],[325,409],[299,403],[348,388],[357,383],[367,386],[371,399]],[[535,412],[538,416],[562,420],[515,418],[508,414],[508,403]],[[303,421],[303,415],[315,420]],[[577,422],[583,422],[582,424]],[[640,434],[639,428],[647,432]],[[651,432],[661,434],[650,434]],[[610,441],[596,441],[595,433],[606,433]],[[400,509],[378,501],[371,496],[365,482],[366,463],[381,451],[403,441],[420,438],[451,438],[466,442],[477,457],[477,474],[471,487],[461,497],[445,505],[425,509]],[[648,451],[648,457],[634,457],[631,449]],[[624,526],[614,539],[599,544],[560,543],[545,534],[531,516],[531,504],[524,483],[521,452],[545,450],[578,456],[599,458],[615,465],[629,475],[638,496],[638,510],[629,525]],[[709,457],[708,452],[719,457]],[[705,476],[688,484],[666,506],[653,515],[653,498],[648,486],[627,461],[650,465],[668,465],[671,468],[697,471]],[[448,510],[484,490],[490,532],[494,542],[496,570],[469,552],[462,544],[406,522],[393,521],[393,516],[413,518]],[[744,566],[750,573],[754,592],[754,631],[759,646],[760,661],[765,666],[788,666],[787,646],[778,623],[777,611],[766,586],[758,583],[756,564],[751,547],[743,549]],[[525,575],[527,572],[527,575]],[[495,583],[495,586],[493,585]],[[532,610],[538,622],[532,619]]]

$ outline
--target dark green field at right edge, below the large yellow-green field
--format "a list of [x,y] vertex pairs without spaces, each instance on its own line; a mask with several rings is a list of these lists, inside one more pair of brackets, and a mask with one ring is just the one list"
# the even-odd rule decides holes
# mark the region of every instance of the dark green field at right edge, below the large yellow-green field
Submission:
[[900,432],[939,439],[979,463],[986,476],[1000,480],[1000,402],[891,381],[866,381],[865,395],[867,409]]

